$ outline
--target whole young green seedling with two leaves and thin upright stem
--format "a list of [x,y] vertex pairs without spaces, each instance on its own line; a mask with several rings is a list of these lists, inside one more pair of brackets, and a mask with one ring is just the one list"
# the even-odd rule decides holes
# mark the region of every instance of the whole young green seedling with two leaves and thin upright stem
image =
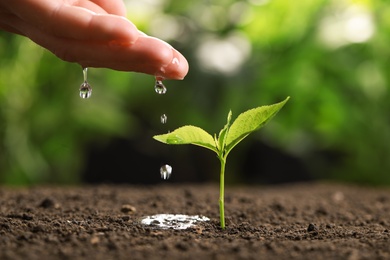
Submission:
[[290,97],[284,101],[270,105],[250,109],[240,114],[236,120],[231,123],[232,111],[229,111],[227,123],[219,132],[218,137],[209,133],[200,127],[186,125],[179,127],[173,132],[162,135],[155,135],[153,138],[165,144],[193,144],[208,148],[214,151],[221,162],[220,182],[219,182],[219,215],[221,228],[225,229],[225,166],[226,159],[230,151],[250,133],[262,128],[272,119],[276,113],[286,104]]

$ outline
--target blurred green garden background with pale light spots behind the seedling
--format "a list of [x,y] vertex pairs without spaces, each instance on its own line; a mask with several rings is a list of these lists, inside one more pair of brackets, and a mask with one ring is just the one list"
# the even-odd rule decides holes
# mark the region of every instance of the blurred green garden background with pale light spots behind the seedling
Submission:
[[291,96],[232,152],[229,182],[390,184],[387,1],[125,2],[140,30],[187,57],[188,76],[160,96],[151,76],[90,69],[83,100],[79,65],[0,32],[0,183],[161,182],[161,163],[172,181],[215,181],[211,152],[152,136],[184,124],[218,132],[229,109]]

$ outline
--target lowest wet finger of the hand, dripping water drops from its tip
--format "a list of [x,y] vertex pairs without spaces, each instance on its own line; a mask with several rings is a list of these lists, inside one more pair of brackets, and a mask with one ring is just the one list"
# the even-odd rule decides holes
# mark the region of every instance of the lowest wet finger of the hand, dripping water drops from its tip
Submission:
[[[179,52],[167,43],[142,32],[139,32],[139,39],[130,46],[97,44],[48,35],[16,16],[10,15],[5,20],[12,28],[28,31],[31,40],[59,58],[78,62],[85,67],[142,72],[167,79],[182,79],[188,72],[188,63]],[[24,34],[23,31],[21,34]]]

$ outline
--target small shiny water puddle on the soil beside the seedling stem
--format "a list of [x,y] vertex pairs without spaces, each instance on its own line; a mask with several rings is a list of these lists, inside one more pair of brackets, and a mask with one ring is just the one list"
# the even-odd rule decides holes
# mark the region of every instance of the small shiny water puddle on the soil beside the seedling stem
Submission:
[[141,220],[141,223],[146,226],[159,229],[183,230],[189,227],[193,227],[199,222],[205,222],[209,220],[209,218],[199,215],[189,216],[183,214],[157,214],[144,217]]

